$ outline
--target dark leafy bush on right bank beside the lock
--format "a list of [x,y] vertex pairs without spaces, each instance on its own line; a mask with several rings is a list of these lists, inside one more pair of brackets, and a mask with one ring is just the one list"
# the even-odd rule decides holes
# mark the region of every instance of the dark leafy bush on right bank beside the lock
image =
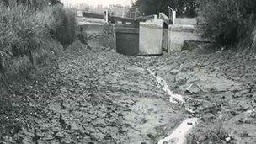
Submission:
[[198,0],[202,36],[220,45],[251,43],[255,24],[254,0]]

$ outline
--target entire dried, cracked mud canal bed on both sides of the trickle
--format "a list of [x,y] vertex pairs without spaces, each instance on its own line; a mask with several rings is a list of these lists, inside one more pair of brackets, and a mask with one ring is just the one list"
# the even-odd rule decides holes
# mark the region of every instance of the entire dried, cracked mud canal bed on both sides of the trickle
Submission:
[[[256,142],[253,54],[196,49],[136,57],[93,43],[71,48],[3,93],[0,143],[151,144],[193,117],[199,120],[188,143]],[[148,69],[185,103],[170,103]],[[187,93],[192,83],[202,91]]]

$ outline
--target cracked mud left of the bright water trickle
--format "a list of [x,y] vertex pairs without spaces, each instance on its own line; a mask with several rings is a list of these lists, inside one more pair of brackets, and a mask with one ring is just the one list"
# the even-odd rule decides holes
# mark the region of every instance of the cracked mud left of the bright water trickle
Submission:
[[[19,132],[0,141],[156,143],[187,115],[168,102],[136,57],[97,45],[79,45],[57,61],[57,70],[44,82],[32,77],[27,89],[17,89],[30,99],[40,99],[27,104],[43,115],[24,118],[29,122]],[[7,117],[2,115],[2,119]]]

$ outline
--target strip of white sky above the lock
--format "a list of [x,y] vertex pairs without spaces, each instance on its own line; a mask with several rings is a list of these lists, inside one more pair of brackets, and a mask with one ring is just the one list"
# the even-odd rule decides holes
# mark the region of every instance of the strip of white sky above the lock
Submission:
[[[135,0],[132,1],[135,2]],[[88,3],[94,5],[102,4],[104,6],[108,6],[109,4],[121,4],[123,6],[131,6],[131,0],[61,0],[61,2],[64,4]]]

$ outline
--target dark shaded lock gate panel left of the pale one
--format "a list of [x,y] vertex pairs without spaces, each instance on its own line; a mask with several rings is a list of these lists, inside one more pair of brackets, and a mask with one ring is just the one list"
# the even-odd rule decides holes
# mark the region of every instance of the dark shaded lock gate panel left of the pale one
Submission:
[[139,29],[116,27],[116,51],[130,56],[139,55]]

